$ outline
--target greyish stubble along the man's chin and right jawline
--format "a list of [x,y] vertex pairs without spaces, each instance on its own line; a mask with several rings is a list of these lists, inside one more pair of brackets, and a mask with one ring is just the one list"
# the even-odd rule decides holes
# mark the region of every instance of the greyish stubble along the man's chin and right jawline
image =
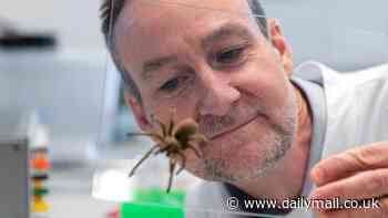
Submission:
[[[294,93],[289,101],[289,107],[279,110],[283,124],[275,124],[268,121],[269,134],[264,136],[261,142],[256,142],[256,146],[266,146],[265,150],[257,148],[255,159],[223,159],[208,158],[202,160],[203,177],[207,180],[216,180],[224,183],[238,183],[242,180],[265,177],[278,163],[284,158],[290,149],[297,128],[297,106]],[[253,156],[249,154],[249,156]],[[249,163],[251,162],[251,163]],[[233,170],[233,165],[244,163],[241,172]]]

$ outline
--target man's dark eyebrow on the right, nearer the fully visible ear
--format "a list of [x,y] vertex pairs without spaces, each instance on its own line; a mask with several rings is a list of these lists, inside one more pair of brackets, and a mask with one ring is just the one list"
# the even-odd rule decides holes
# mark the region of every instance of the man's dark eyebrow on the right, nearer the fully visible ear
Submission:
[[252,33],[241,24],[236,23],[226,23],[219,27],[218,29],[212,31],[208,35],[206,35],[202,40],[202,46],[204,49],[208,48],[212,45],[214,42],[227,39],[229,37],[239,37],[244,38],[246,40],[252,40]]

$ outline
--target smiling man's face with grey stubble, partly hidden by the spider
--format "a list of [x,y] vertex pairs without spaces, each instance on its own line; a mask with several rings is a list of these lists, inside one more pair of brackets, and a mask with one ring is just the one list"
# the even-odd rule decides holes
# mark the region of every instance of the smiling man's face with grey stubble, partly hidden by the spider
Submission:
[[[116,51],[135,81],[141,106],[127,97],[137,123],[157,127],[192,117],[210,143],[186,150],[186,169],[205,179],[263,176],[289,148],[296,101],[292,60],[279,27],[261,33],[244,0],[132,0],[115,29]],[[190,7],[195,6],[195,7]]]

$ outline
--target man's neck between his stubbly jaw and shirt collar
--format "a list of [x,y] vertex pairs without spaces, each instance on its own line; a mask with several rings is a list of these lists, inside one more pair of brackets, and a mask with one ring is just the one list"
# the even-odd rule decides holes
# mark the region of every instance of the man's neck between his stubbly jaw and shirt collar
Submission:
[[307,100],[294,85],[297,96],[297,132],[289,150],[265,177],[233,184],[255,198],[284,200],[300,196],[306,174],[313,122]]

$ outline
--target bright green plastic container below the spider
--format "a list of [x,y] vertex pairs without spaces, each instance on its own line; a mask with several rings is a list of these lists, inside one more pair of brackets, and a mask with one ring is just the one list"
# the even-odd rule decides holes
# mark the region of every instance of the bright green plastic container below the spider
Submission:
[[121,205],[121,218],[184,218],[184,198],[180,190],[136,190],[133,201]]

